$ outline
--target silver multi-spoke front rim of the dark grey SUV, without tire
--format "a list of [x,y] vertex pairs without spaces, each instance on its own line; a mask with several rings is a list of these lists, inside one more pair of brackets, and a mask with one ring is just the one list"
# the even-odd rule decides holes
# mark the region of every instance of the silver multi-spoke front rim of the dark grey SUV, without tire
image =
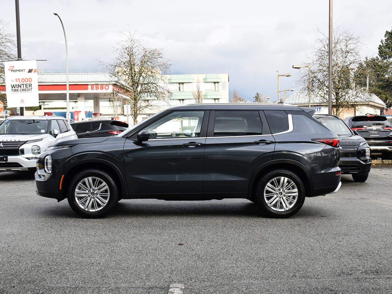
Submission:
[[109,197],[109,187],[100,178],[84,178],[76,185],[76,203],[85,211],[95,212],[103,209],[107,205]]

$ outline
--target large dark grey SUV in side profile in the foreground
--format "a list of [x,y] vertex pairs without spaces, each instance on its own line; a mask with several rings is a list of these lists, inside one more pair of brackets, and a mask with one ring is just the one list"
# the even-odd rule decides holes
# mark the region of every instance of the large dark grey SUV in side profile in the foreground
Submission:
[[[271,216],[291,216],[305,197],[341,185],[338,136],[313,112],[284,104],[173,107],[115,137],[54,144],[38,159],[37,194],[67,198],[90,218],[134,198],[247,198]],[[168,122],[181,123],[178,136],[158,131]]]

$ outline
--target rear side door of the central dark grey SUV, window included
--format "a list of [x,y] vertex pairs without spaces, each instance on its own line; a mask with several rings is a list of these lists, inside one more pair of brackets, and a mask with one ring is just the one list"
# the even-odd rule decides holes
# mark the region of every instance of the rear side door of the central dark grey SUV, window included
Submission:
[[207,197],[247,197],[253,172],[272,160],[275,140],[263,111],[211,111],[204,159]]

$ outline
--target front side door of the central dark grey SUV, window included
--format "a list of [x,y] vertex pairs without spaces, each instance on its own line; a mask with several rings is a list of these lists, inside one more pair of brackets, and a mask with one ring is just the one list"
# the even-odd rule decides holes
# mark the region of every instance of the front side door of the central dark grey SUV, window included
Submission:
[[145,127],[149,140],[126,140],[124,167],[131,197],[203,194],[208,114],[209,111],[173,111]]

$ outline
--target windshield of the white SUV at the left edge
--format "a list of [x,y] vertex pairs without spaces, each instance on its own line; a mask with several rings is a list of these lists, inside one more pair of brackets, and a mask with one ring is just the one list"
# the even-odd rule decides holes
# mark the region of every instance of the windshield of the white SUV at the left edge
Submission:
[[47,126],[47,120],[5,120],[0,124],[0,134],[44,134]]

